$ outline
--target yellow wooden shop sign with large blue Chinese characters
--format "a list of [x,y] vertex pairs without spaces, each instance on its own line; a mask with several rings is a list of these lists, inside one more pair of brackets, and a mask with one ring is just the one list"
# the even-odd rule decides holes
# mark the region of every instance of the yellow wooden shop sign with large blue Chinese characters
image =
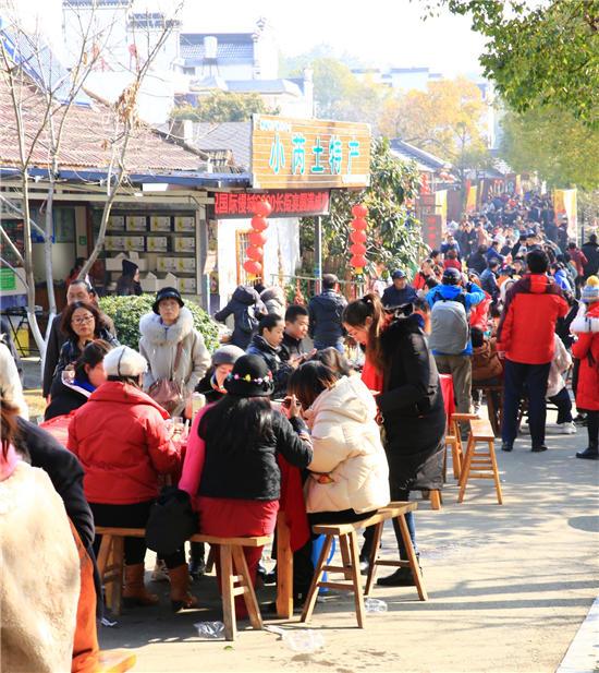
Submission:
[[370,183],[370,127],[254,115],[252,187],[347,189]]

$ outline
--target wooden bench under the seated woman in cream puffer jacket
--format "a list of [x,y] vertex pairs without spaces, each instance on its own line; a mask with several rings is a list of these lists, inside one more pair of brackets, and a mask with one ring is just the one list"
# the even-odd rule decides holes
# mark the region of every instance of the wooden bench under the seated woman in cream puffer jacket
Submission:
[[[307,622],[314,611],[316,604],[316,598],[318,596],[318,589],[326,587],[328,589],[341,589],[343,591],[353,591],[354,600],[356,604],[356,617],[359,628],[364,628],[364,596],[368,596],[372,589],[375,581],[375,572],[377,566],[394,566],[394,567],[409,567],[414,574],[416,581],[416,588],[421,601],[427,600],[427,592],[420,575],[420,567],[418,566],[418,560],[412,545],[412,539],[405,522],[405,514],[414,512],[417,508],[416,503],[389,503],[386,507],[380,508],[377,514],[367,519],[355,521],[353,524],[319,524],[313,526],[313,532],[317,536],[326,536],[325,543],[322,544],[322,551],[318,560],[318,565],[314,574],[314,578],[310,585],[308,597],[302,612],[302,622]],[[389,519],[399,519],[400,530],[407,552],[408,561],[380,561],[379,548],[380,539],[382,536],[382,527],[384,521]],[[357,545],[356,531],[363,528],[375,526],[375,536],[372,540],[372,552],[370,554],[370,569],[366,578],[366,589],[362,589],[362,576],[359,572],[359,549]],[[327,558],[329,557],[333,537],[339,538],[339,549],[341,550],[341,557],[343,560],[342,566],[328,565]],[[322,581],[323,573],[342,573],[349,582],[340,581]]]

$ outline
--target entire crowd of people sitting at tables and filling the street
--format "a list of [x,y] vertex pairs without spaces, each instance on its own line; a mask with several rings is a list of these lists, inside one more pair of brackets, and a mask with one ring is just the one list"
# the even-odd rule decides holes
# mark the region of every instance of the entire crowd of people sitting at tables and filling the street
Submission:
[[[188,493],[203,532],[237,537],[273,532],[281,460],[298,469],[308,524],[294,552],[294,602],[301,605],[314,576],[313,525],[358,521],[414,491],[442,488],[440,373],[451,374],[462,412],[480,412],[481,387],[503,386],[503,450],[514,449],[524,411],[531,450],[547,450],[549,400],[563,433],[586,424],[588,447],[576,456],[597,460],[599,245],[591,236],[578,250],[564,231],[546,199],[497,197],[479,214],[448,225],[441,249],[430,251],[412,283],[408,272],[396,269],[389,287],[347,302],[338,279],[326,275],[307,307],[288,304],[278,287],[239,287],[215,314],[217,321],[232,316],[233,325],[230,341],[212,354],[176,289],[157,293],[139,322],[135,350],[119,344],[88,283],[71,279],[68,305],[49,333],[42,428],[26,419],[10,335],[0,344],[8,363],[0,380],[0,491],[10,503],[1,514],[3,563],[16,567],[4,534],[10,540],[21,531],[49,567],[37,578],[15,572],[14,587],[1,588],[3,612],[24,614],[28,602],[35,613],[29,623],[15,617],[12,625],[32,642],[20,670],[27,657],[32,666],[34,658],[46,658],[39,670],[66,670],[70,659],[73,671],[94,670],[98,645],[90,615],[102,605],[97,572],[89,570],[100,545],[94,527],[145,528],[164,474]],[[136,293],[137,272],[127,271],[131,283],[122,285]],[[314,344],[308,350],[306,336]],[[345,358],[347,342],[363,351],[362,365]],[[191,424],[186,442],[176,429],[181,418]],[[59,426],[68,428],[66,446],[52,434]],[[50,519],[56,549],[38,534]],[[406,524],[417,554],[412,513]],[[363,573],[371,532],[364,536]],[[395,534],[406,560],[400,530]],[[212,551],[220,586],[218,545]],[[261,551],[244,548],[255,586],[277,576],[277,568],[266,573]],[[158,601],[145,585],[145,556],[143,538],[125,538],[127,608]],[[41,600],[54,572],[60,591]],[[204,572],[204,545],[195,544],[190,562],[184,546],[161,554],[152,577],[170,581],[171,605],[180,611],[197,605],[192,582]],[[30,586],[20,593],[15,587],[25,580]],[[378,584],[411,586],[414,577],[402,567]],[[52,620],[57,610],[64,615],[60,623]],[[236,614],[246,615],[240,597]],[[2,627],[4,658],[11,642],[4,617]],[[46,650],[42,632],[52,634]]]

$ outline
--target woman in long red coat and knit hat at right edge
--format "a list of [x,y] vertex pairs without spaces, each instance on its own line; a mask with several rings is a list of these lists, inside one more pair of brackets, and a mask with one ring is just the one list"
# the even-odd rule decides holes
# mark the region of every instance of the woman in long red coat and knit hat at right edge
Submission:
[[577,458],[599,460],[599,278],[590,276],[582,300],[588,304],[586,315],[572,322],[572,332],[578,340],[572,345],[572,354],[579,360],[576,407],[587,412],[588,447]]

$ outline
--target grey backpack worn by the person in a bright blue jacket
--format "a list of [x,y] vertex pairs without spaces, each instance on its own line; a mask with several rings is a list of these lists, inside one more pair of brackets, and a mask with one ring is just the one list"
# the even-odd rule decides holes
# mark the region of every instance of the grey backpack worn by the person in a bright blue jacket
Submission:
[[470,342],[470,326],[466,314],[464,295],[439,299],[430,311],[430,350],[447,356],[459,356]]

